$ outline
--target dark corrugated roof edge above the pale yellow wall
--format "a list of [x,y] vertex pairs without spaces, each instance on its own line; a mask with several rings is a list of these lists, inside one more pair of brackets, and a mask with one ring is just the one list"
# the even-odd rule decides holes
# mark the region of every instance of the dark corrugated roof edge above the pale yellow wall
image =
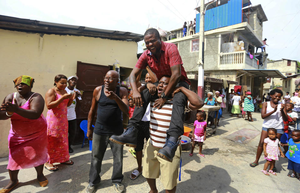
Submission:
[[143,40],[142,34],[122,32],[115,30],[97,29],[92,27],[66,25],[60,23],[42,22],[38,20],[22,19],[18,17],[9,17],[0,15],[0,29],[34,32],[57,35],[73,35],[100,37],[112,40],[134,41]]

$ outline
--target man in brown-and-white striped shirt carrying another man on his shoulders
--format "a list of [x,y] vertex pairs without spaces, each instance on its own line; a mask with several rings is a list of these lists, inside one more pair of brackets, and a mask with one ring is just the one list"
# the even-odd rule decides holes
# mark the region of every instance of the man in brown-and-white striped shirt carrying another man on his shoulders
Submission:
[[[158,97],[161,97],[161,93],[165,92],[169,82],[170,76],[163,76],[160,79],[157,86]],[[141,91],[145,89],[145,86],[142,86],[139,89]],[[178,92],[182,92],[188,98],[186,109],[189,111],[198,110],[203,106],[203,101],[195,92],[192,92],[185,87],[176,87],[172,96]],[[150,101],[150,139],[147,141],[145,149],[142,175],[147,179],[151,189],[150,192],[157,192],[155,181],[156,178],[159,177],[159,174],[160,181],[164,185],[166,192],[175,192],[181,156],[181,138],[179,138],[178,143],[174,146],[175,156],[173,157],[172,162],[157,156],[158,151],[165,146],[167,140],[167,130],[170,126],[173,100],[168,97],[160,109],[156,109],[154,104],[154,101]],[[179,146],[179,148],[177,148],[177,146]]]

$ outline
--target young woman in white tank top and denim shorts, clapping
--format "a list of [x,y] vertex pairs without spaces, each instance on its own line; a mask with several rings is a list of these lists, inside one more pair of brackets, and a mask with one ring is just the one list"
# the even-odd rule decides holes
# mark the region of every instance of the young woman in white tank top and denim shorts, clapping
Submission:
[[260,136],[260,141],[257,147],[256,159],[254,162],[250,163],[251,167],[255,167],[258,165],[259,158],[262,155],[263,151],[263,140],[268,137],[267,129],[275,128],[277,130],[278,139],[280,139],[281,135],[283,134],[283,121],[287,121],[287,112],[285,110],[284,104],[281,104],[279,102],[282,95],[282,91],[276,88],[270,91],[271,101],[262,103],[262,134]]

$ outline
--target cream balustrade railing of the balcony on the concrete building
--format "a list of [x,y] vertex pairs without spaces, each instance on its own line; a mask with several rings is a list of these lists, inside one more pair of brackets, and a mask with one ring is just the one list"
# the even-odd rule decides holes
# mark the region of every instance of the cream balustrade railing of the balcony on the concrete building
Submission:
[[228,52],[220,54],[220,70],[258,69],[257,59],[251,59],[246,51]]

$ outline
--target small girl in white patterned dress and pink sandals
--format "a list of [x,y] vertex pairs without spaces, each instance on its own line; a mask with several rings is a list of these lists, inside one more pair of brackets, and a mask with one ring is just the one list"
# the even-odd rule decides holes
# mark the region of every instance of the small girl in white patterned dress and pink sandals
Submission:
[[264,173],[266,176],[270,176],[267,172],[268,166],[269,172],[275,176],[277,176],[276,172],[273,171],[273,168],[275,166],[275,161],[278,160],[278,155],[280,152],[281,157],[284,157],[283,152],[280,149],[279,146],[279,140],[276,137],[277,130],[274,128],[268,128],[267,130],[268,136],[263,142],[263,151],[265,154],[265,159],[267,160],[265,163],[265,166],[263,167],[262,173]]

